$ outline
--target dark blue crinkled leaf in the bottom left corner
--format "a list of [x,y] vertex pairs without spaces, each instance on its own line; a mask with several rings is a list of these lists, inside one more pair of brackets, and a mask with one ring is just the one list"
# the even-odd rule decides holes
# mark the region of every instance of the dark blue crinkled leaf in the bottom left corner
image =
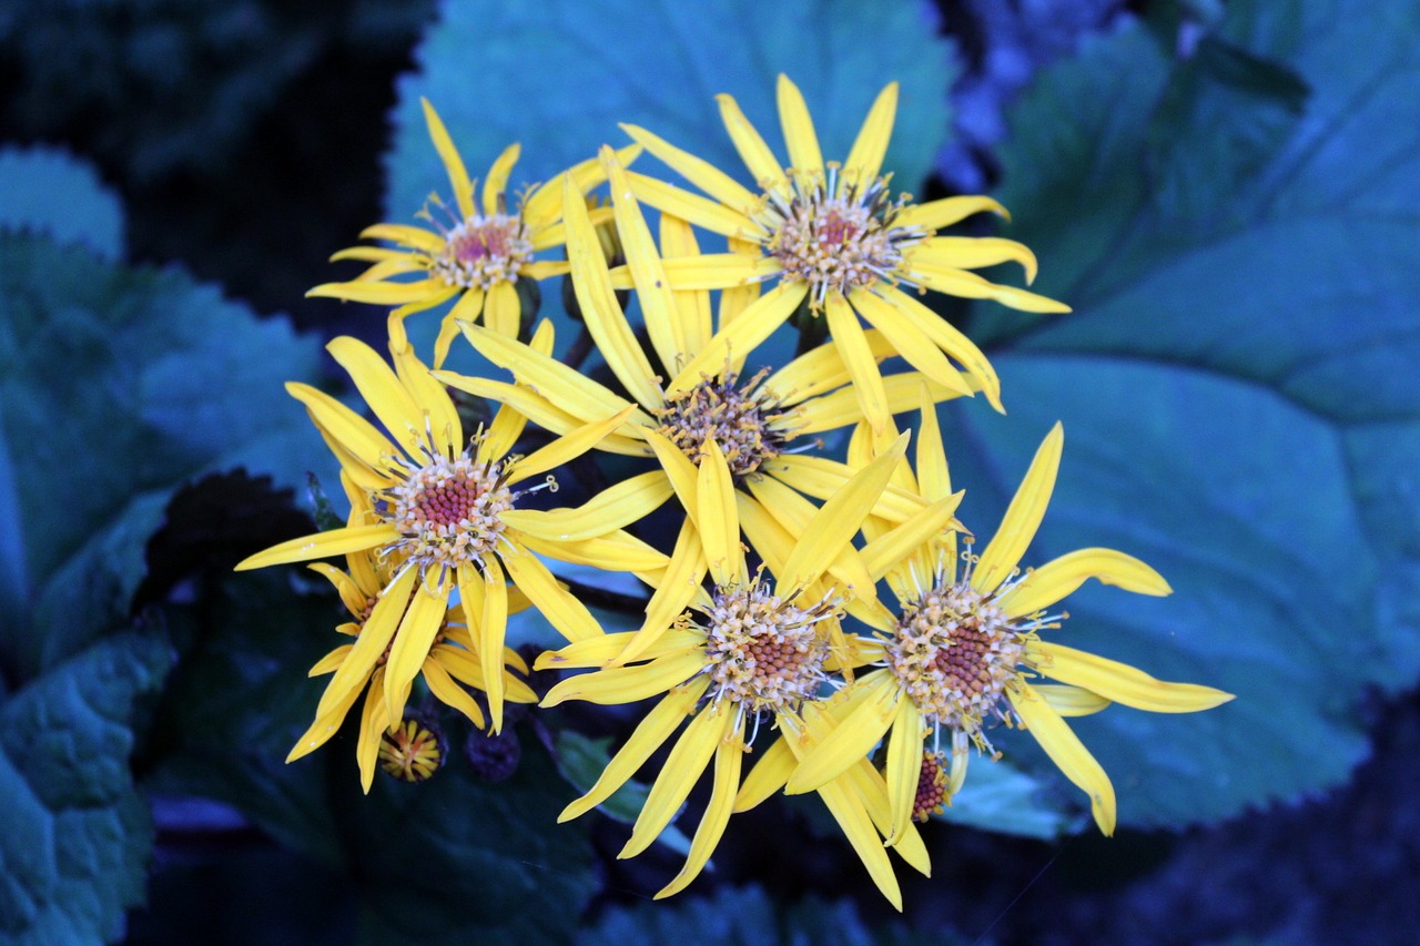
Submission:
[[152,817],[128,766],[133,700],[169,662],[152,635],[112,636],[0,705],[6,942],[122,935],[152,851]]

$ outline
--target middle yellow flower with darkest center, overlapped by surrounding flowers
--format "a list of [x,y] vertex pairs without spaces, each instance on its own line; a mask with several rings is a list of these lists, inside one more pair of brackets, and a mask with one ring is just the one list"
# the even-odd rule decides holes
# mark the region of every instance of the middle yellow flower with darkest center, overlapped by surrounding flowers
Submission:
[[[728,328],[711,335],[709,291],[672,293],[666,288],[662,264],[672,259],[663,260],[657,251],[640,209],[630,196],[626,172],[611,149],[602,149],[602,161],[611,180],[616,226],[629,271],[635,276],[633,286],[653,354],[662,364],[679,366],[677,378],[662,386],[659,372],[652,366],[650,357],[642,349],[616,300],[612,274],[585,202],[571,182],[567,182],[564,190],[567,249],[584,322],[612,374],[635,403],[551,358],[547,351],[538,352],[517,339],[469,324],[463,324],[463,330],[474,348],[496,365],[511,371],[518,384],[466,378],[453,372],[435,372],[435,376],[462,391],[513,405],[558,433],[594,418],[629,412],[625,425],[605,437],[598,449],[632,456],[653,453],[662,470],[632,477],[606,491],[599,511],[615,514],[623,521],[650,513],[673,491],[686,503],[690,493],[686,484],[696,477],[707,439],[724,455],[734,482],[744,487],[737,499],[740,503],[764,504],[772,514],[787,516],[785,510],[792,509],[795,500],[807,503],[797,496],[787,500],[785,493],[798,490],[821,500],[834,496],[852,477],[852,470],[822,457],[801,456],[802,447],[794,440],[842,428],[862,418],[856,398],[843,388],[849,371],[842,358],[834,348],[822,347],[780,371],[744,378],[746,358],[763,341],[753,335],[738,335],[734,344],[721,345],[721,354],[714,361],[707,362],[699,357],[697,352],[719,345],[727,331],[734,332],[741,325],[757,322],[755,312],[781,305],[785,295],[778,293],[780,301],[775,301],[774,293],[760,300],[750,300],[746,293],[723,293],[720,325],[728,322]],[[662,244],[677,253],[673,259],[694,259],[694,236],[687,224],[663,214],[660,227]],[[551,327],[544,325],[540,331],[551,331]],[[878,332],[870,335],[869,345],[878,352],[876,357],[890,354]],[[892,392],[892,409],[916,406],[923,385],[927,385],[937,401],[970,392],[966,379],[954,371],[951,376],[953,386],[949,388],[919,372],[890,375],[886,381]],[[879,501],[888,507],[889,514],[902,518],[920,513],[924,506],[897,487],[885,490]],[[682,531],[677,550],[689,548],[697,541],[693,507],[687,504],[686,509],[692,510],[692,521]],[[763,510],[751,510],[750,514],[755,520],[764,516]],[[589,527],[589,521],[574,521],[569,516],[562,517],[562,521],[569,530]],[[673,554],[672,558],[682,567],[690,561],[686,555]],[[648,636],[636,639],[628,659],[684,609],[690,599],[684,588],[699,582],[703,574],[703,570],[699,575],[687,572],[683,581],[662,584],[663,591],[652,601],[648,612]],[[868,581],[861,570],[839,570],[835,574],[849,587],[855,581]]]

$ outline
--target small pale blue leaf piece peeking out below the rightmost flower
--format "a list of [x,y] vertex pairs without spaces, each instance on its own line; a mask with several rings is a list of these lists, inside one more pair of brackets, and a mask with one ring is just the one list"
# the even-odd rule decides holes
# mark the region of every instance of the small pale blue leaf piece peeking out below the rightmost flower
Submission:
[[981,831],[1041,839],[1056,838],[1078,821],[1038,778],[983,756],[971,760],[966,784],[951,807],[934,817]]

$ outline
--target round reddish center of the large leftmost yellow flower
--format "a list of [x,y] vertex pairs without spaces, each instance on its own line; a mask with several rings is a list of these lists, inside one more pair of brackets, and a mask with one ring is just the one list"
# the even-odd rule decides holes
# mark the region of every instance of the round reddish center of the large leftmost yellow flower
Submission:
[[477,463],[467,452],[453,460],[430,457],[385,496],[383,511],[402,535],[386,553],[398,551],[420,570],[481,564],[498,544],[503,513],[515,499],[501,464]]

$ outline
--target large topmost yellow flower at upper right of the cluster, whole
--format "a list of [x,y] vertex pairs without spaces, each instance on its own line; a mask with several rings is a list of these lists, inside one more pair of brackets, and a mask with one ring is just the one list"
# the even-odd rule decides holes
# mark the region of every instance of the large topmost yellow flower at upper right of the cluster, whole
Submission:
[[733,98],[720,95],[719,102],[758,193],[652,132],[623,125],[636,143],[709,196],[628,172],[635,195],[730,240],[731,251],[726,254],[667,260],[669,290],[730,288],[778,278],[770,293],[777,304],[755,312],[753,325],[736,322],[719,345],[700,352],[701,361],[724,358],[727,348],[741,342],[741,334],[767,338],[807,300],[811,311],[826,320],[876,432],[888,428],[892,408],[859,318],[882,334],[893,354],[937,384],[953,384],[957,372],[949,359],[956,361],[1000,411],[1000,382],[985,355],[917,301],[916,293],[991,298],[1031,312],[1069,308],[970,271],[1015,261],[1032,280],[1035,257],[1025,246],[995,237],[937,236],[937,230],[983,210],[1005,216],[995,200],[970,196],[916,205],[907,196],[892,196],[880,168],[897,108],[896,82],[873,102],[842,165],[825,163],[804,97],[787,77],[780,77],[778,111],[788,168],[780,165]]

